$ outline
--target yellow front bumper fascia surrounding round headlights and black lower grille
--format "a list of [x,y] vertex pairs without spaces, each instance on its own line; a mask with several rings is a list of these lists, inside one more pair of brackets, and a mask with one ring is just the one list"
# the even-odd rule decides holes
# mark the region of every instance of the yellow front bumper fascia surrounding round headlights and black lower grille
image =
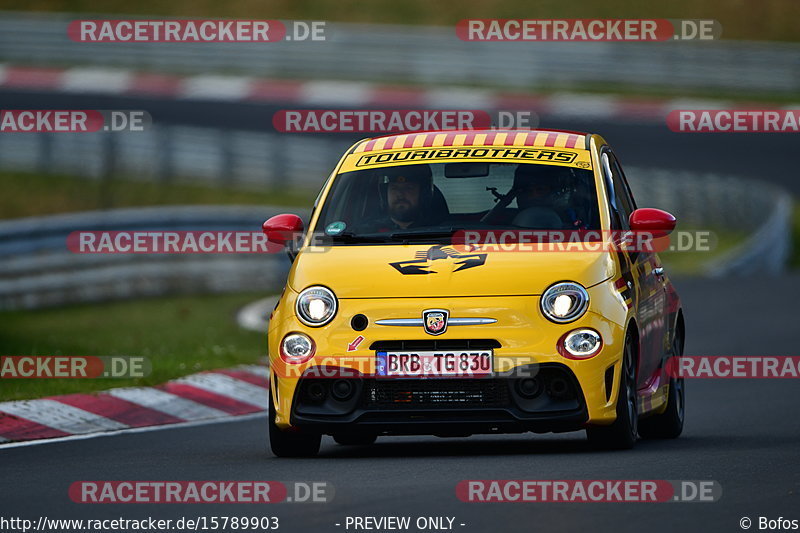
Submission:
[[[605,285],[605,284],[603,284]],[[619,388],[619,371],[624,339],[624,328],[620,320],[610,320],[604,308],[623,305],[613,300],[613,296],[604,296],[600,287],[589,289],[592,294],[592,306],[580,319],[570,324],[554,324],[546,320],[539,311],[539,299],[535,296],[505,297],[462,297],[462,298],[392,298],[392,299],[342,299],[334,320],[320,328],[311,328],[301,324],[294,316],[294,295],[287,291],[270,321],[269,353],[272,375],[272,393],[275,401],[278,427],[287,429],[291,426],[308,426],[327,432],[331,427],[344,428],[347,425],[374,426],[381,432],[421,432],[431,425],[448,425],[451,418],[453,424],[486,427],[530,428],[524,431],[539,429],[560,430],[562,426],[579,429],[585,424],[605,425],[616,419],[616,396]],[[380,325],[382,319],[402,319],[421,316],[423,309],[444,308],[450,311],[450,317],[489,317],[496,322],[479,326],[449,327],[437,337],[426,335],[420,327],[395,327]],[[594,309],[594,310],[593,310]],[[599,312],[603,310],[603,312]],[[368,318],[368,326],[363,330],[354,330],[351,319],[363,314]],[[623,322],[624,323],[624,322]],[[567,332],[578,328],[592,328],[600,333],[603,346],[589,359],[573,360],[561,356],[556,343]],[[280,342],[291,332],[301,332],[310,336],[316,344],[316,354],[308,362],[299,365],[284,363],[279,355]],[[353,341],[362,337],[354,349]],[[413,410],[404,411],[396,407],[369,406],[359,404],[347,413],[331,414],[311,412],[296,408],[300,383],[309,369],[331,367],[352,370],[363,374],[364,380],[373,378],[375,374],[376,346],[386,342],[420,342],[436,339],[442,342],[470,343],[476,339],[495,342],[493,349],[494,377],[502,376],[515,368],[526,365],[560,365],[569,371],[576,382],[581,407],[571,406],[563,412],[525,412],[516,408],[512,401],[501,406],[476,405],[430,405],[422,409],[423,413]],[[434,381],[433,378],[425,381]],[[326,381],[326,380],[322,380]],[[383,381],[383,380],[381,380]],[[393,378],[392,381],[401,381]],[[462,381],[467,383],[467,381]],[[509,385],[510,386],[510,385]],[[513,395],[512,395],[513,396]],[[513,400],[513,398],[511,398]],[[400,413],[400,414],[398,414]],[[405,413],[405,414],[402,414]],[[406,416],[408,415],[408,416]],[[559,420],[566,421],[561,424]],[[401,427],[402,426],[402,427]],[[471,431],[475,432],[475,431]]]

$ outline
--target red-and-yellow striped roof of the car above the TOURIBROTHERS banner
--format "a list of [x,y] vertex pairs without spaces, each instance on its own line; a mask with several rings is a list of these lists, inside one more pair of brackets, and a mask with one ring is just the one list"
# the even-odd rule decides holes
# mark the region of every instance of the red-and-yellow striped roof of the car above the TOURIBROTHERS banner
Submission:
[[591,134],[567,130],[444,130],[386,135],[364,139],[350,153],[375,152],[399,148],[442,146],[518,146],[588,150]]

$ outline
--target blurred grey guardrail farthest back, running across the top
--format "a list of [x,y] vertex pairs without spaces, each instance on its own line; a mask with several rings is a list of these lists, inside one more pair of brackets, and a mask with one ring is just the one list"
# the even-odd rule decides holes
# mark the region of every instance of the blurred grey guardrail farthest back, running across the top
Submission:
[[329,23],[327,40],[321,42],[73,42],[67,38],[67,24],[81,17],[87,15],[0,12],[0,59],[524,89],[584,84],[786,93],[800,89],[800,46],[793,43],[472,43],[459,40],[455,27],[344,23]]

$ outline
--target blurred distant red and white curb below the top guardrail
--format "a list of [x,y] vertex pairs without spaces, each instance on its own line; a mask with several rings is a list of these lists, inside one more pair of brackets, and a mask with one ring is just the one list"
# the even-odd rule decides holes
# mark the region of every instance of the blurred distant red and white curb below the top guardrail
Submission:
[[[0,63],[0,88],[151,96],[187,100],[272,102],[291,106],[419,107],[529,110],[540,115],[663,122],[674,109],[746,108],[722,100],[652,99],[603,94],[532,95],[464,87],[419,88],[336,80],[274,80],[248,76],[176,76],[97,67],[45,68]],[[796,109],[797,104],[783,106]]]

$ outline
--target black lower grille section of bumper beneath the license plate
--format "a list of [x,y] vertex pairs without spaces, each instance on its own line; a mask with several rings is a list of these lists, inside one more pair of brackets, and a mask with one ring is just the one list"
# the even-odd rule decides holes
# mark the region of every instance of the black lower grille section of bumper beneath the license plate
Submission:
[[328,434],[440,436],[574,431],[584,426],[584,396],[567,367],[529,365],[516,370],[470,379],[304,377],[295,389],[291,425]]

